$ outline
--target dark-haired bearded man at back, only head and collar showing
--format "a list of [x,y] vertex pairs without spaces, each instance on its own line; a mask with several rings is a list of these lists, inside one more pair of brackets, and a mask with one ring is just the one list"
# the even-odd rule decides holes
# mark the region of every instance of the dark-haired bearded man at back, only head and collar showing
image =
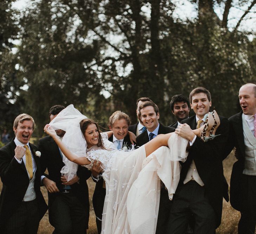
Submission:
[[182,94],[174,95],[170,101],[170,107],[177,121],[169,127],[177,128],[182,120],[189,118],[189,100]]

